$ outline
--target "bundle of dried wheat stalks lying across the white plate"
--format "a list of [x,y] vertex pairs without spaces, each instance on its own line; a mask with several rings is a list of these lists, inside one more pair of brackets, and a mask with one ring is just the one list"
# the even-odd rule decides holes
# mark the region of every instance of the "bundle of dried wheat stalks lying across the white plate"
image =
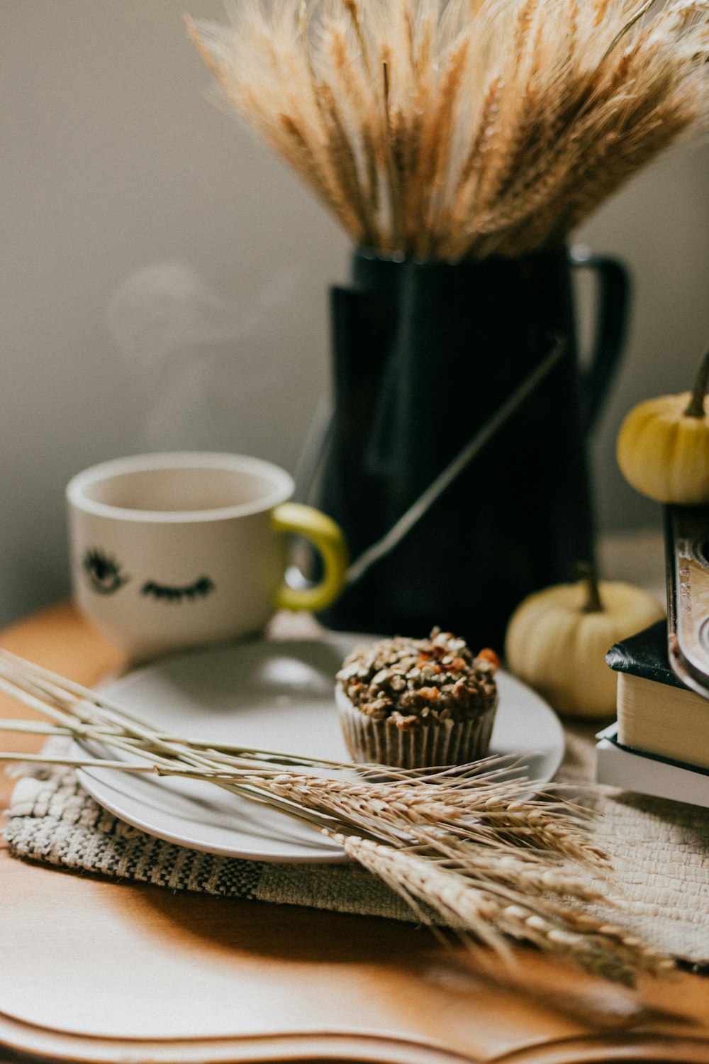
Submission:
[[[560,794],[523,797],[508,761],[391,770],[242,747],[210,747],[157,731],[87,688],[0,650],[0,689],[51,721],[0,730],[73,736],[86,753],[0,753],[2,761],[187,776],[310,825],[378,876],[438,934],[443,928],[510,960],[507,938],[533,943],[608,979],[673,964],[580,908],[605,897],[608,858],[589,837],[593,815]],[[103,757],[108,751],[112,757]],[[579,868],[581,866],[581,868]],[[581,870],[585,869],[585,870]]]

